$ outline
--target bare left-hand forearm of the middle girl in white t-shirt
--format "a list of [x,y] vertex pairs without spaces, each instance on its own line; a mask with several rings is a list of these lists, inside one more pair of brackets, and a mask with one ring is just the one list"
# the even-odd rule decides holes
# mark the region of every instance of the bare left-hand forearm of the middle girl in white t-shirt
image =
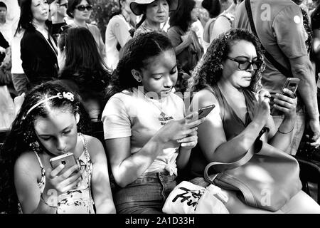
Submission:
[[121,187],[125,187],[137,180],[164,150],[164,143],[157,138],[151,138],[139,152],[130,155],[112,170],[114,179]]

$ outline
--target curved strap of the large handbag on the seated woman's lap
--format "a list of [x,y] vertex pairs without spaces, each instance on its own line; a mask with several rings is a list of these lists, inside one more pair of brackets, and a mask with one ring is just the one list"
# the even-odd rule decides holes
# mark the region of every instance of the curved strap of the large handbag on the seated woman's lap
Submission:
[[[260,138],[262,137],[262,135],[268,132],[269,132],[269,128],[266,128],[266,127],[262,128],[259,135],[257,136],[257,139],[255,140],[255,143],[252,145],[252,147],[249,148],[249,150],[247,150],[245,155],[241,157],[240,160],[237,160],[235,162],[229,162],[229,163],[210,162],[208,165],[206,165],[206,168],[203,173],[203,177],[206,180],[206,182],[209,182],[210,184],[214,184],[213,180],[215,180],[215,177],[217,177],[220,172],[223,172],[225,170],[233,170],[236,167],[245,165],[245,163],[247,163],[252,158],[252,156],[255,155],[255,153],[260,152],[262,147],[262,140],[260,140]],[[265,134],[265,137],[267,137],[267,134]],[[258,147],[257,147],[257,144],[259,144]],[[211,175],[211,177],[209,177],[208,170],[213,166],[215,166],[215,170],[218,172],[215,173],[214,175]]]

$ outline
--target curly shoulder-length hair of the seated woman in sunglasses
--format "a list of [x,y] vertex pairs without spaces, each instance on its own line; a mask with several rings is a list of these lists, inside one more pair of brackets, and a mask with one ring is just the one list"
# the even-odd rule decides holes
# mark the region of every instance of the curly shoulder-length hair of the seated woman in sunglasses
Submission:
[[265,68],[265,61],[262,56],[260,41],[255,35],[244,29],[230,29],[229,31],[220,34],[210,44],[208,51],[203,56],[201,61],[194,68],[191,78],[188,80],[188,90],[196,92],[208,86],[213,86],[218,83],[223,72],[223,61],[230,53],[231,47],[236,41],[248,41],[255,46],[257,51],[257,60],[261,61],[255,71],[249,89],[257,92],[262,88],[261,73]]

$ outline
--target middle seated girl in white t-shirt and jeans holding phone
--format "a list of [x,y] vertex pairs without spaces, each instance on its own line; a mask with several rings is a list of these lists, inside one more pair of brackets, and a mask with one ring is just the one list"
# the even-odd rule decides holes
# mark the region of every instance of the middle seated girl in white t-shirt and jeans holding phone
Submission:
[[119,190],[119,213],[161,213],[188,162],[203,120],[184,116],[184,103],[171,92],[177,78],[169,38],[144,33],[124,46],[112,74],[111,97],[102,113],[107,155]]

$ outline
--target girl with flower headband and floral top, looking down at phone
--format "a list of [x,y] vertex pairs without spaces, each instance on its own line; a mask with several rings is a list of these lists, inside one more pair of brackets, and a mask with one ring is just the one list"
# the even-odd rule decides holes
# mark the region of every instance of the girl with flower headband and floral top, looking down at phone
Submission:
[[[115,212],[105,150],[97,138],[78,133],[79,105],[79,95],[58,83],[26,95],[1,148],[6,212],[18,212],[18,202],[26,214]],[[51,158],[67,152],[77,165],[51,167]]]

